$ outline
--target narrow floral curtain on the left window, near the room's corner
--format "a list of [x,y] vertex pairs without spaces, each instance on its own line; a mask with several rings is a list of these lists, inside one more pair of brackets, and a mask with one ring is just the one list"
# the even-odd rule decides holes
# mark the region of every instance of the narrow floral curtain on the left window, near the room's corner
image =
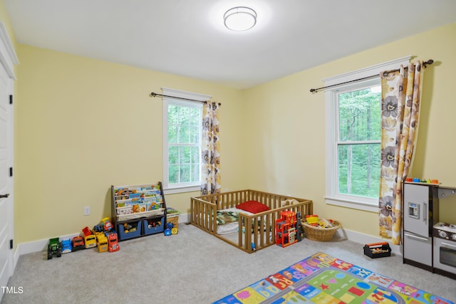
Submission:
[[219,103],[207,101],[202,111],[201,194],[220,193]]

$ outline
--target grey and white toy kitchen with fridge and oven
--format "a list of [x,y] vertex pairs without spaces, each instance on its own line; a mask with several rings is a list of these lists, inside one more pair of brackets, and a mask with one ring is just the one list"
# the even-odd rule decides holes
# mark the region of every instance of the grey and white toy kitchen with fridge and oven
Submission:
[[439,221],[440,204],[456,188],[423,182],[403,186],[403,263],[456,278],[456,218]]

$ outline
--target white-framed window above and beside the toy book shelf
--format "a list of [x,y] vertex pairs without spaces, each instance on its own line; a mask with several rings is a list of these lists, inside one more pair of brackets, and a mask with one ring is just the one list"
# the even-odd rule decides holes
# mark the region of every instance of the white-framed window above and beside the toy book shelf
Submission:
[[201,185],[202,103],[210,96],[163,88],[163,188],[198,191]]

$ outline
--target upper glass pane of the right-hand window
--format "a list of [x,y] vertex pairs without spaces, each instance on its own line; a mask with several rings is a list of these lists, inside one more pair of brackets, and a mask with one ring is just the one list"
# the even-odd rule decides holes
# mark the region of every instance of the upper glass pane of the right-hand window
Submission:
[[378,86],[338,94],[339,140],[380,140],[380,105]]

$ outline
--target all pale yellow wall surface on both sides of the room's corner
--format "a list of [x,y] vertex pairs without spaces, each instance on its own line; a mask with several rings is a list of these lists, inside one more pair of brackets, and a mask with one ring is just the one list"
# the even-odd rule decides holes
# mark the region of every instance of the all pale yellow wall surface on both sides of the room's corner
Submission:
[[[2,11],[0,0],[0,21],[7,17]],[[321,216],[377,236],[377,214],[324,203],[324,94],[309,89],[323,78],[402,56],[434,59],[425,74],[413,176],[456,187],[456,144],[445,139],[456,130],[455,36],[453,23],[249,90],[17,44],[15,243],[93,226],[110,214],[111,184],[162,179],[162,102],[149,96],[162,87],[222,103],[223,190],[312,199]],[[168,195],[167,204],[186,213],[195,194]],[[90,216],[83,216],[83,206],[91,207]],[[456,222],[456,198],[442,201],[441,209],[442,220]]]

